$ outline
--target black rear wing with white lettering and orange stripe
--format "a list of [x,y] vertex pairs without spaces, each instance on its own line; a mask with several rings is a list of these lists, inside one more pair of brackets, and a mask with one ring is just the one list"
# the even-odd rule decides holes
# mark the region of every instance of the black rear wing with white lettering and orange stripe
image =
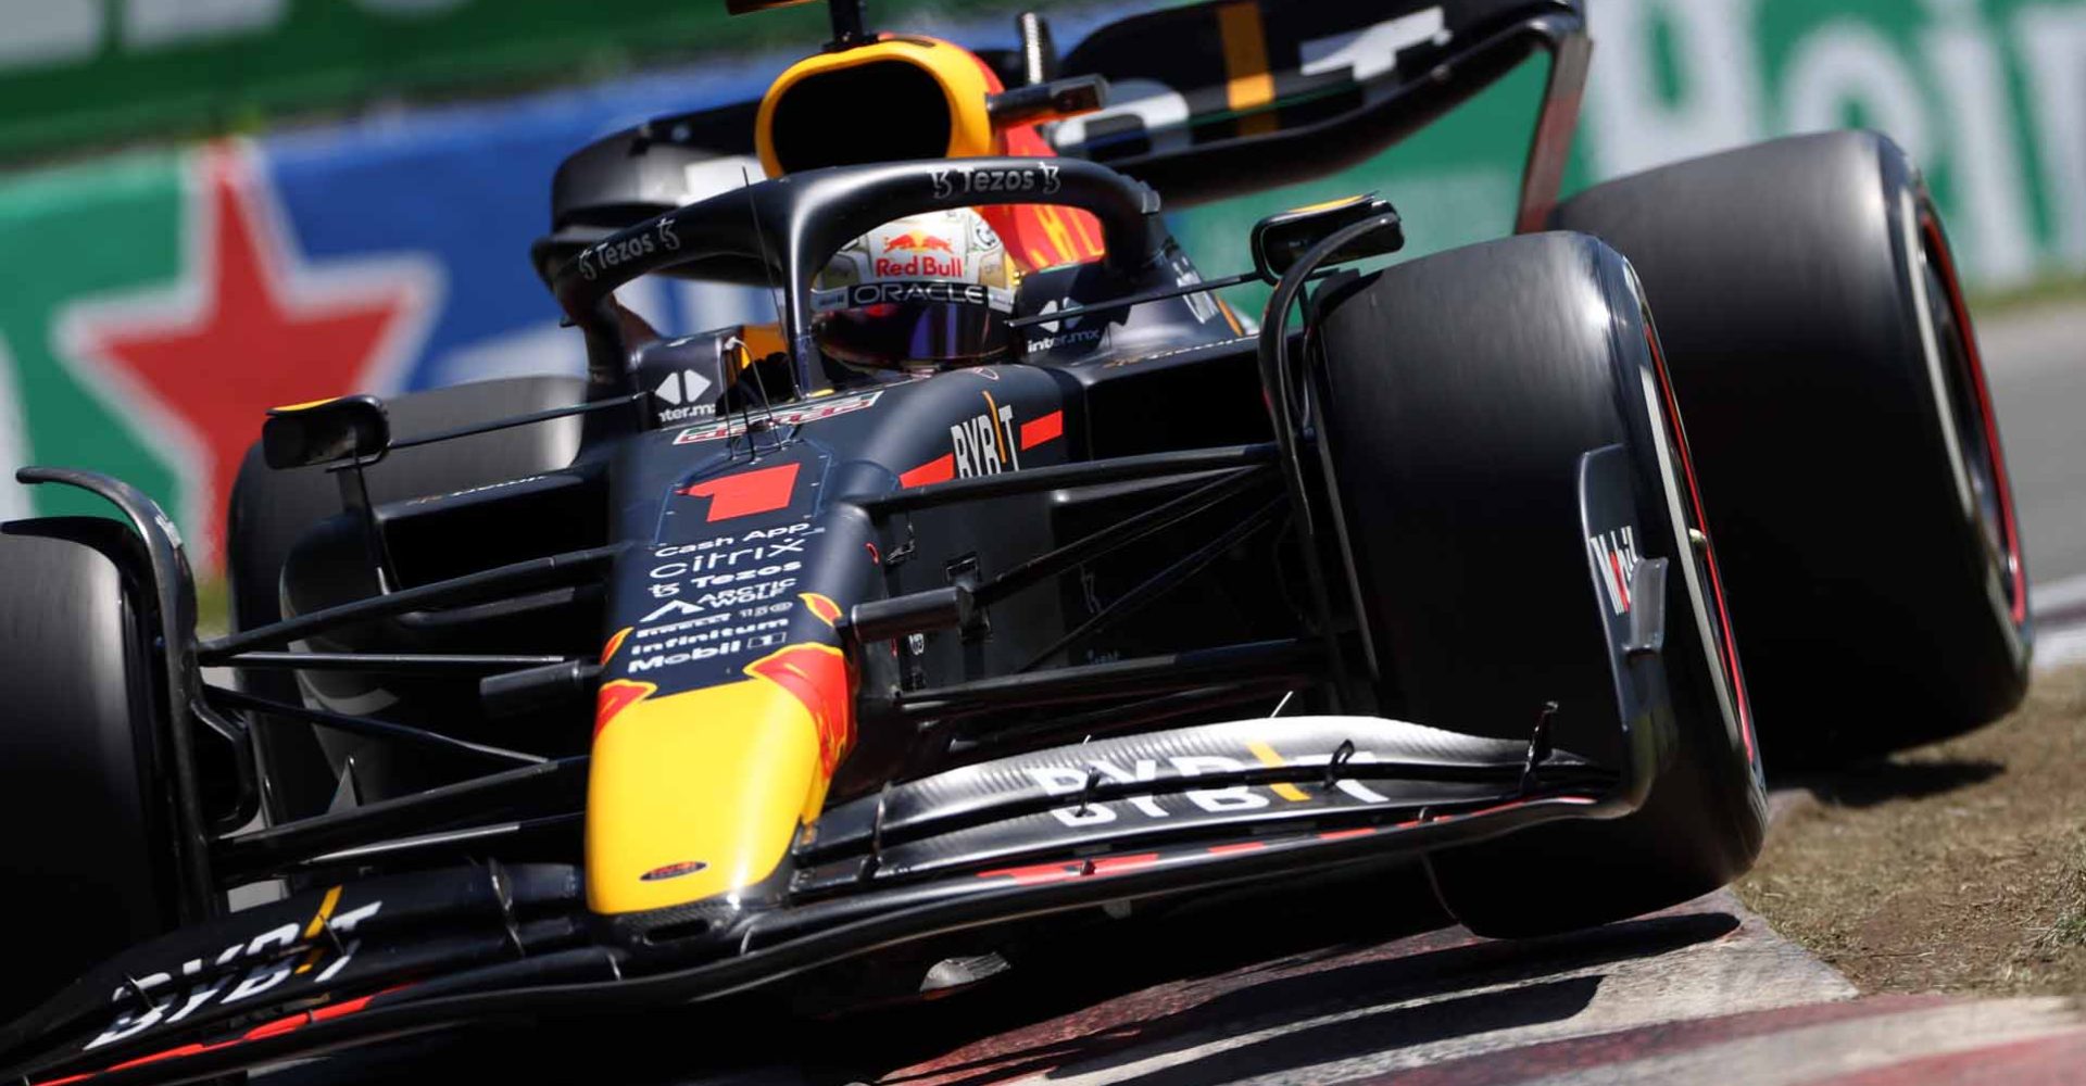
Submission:
[[[774,4],[743,4],[753,6]],[[1306,181],[1352,167],[1535,52],[1552,54],[1517,229],[1558,196],[1592,42],[1583,0],[1208,0],[1087,35],[1056,75],[1099,75],[1112,104],[1045,125],[1060,154],[1156,188],[1168,206]],[[1014,56],[985,54],[1001,77]],[[574,152],[553,183],[563,246],[759,179],[757,102],[659,117]],[[549,242],[549,240],[547,240]]]

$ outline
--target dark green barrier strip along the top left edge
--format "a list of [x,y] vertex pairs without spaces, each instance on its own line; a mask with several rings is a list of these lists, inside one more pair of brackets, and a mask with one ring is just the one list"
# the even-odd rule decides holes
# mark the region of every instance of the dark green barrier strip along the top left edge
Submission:
[[[1018,6],[1039,4],[882,0],[874,13],[909,25]],[[0,0],[0,156],[824,38],[816,4],[734,19],[722,0]]]

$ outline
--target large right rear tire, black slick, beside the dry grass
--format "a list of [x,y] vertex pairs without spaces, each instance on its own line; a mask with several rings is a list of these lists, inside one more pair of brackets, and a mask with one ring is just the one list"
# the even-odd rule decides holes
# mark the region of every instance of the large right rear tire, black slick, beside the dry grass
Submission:
[[2028,688],[2028,569],[1948,240],[1890,140],[1775,140],[1556,211],[1644,277],[1767,757],[1986,723]]

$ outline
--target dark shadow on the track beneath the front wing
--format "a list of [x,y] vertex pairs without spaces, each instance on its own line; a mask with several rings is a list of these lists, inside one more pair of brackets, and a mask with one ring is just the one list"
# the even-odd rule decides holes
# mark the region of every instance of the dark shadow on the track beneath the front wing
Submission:
[[[446,1032],[261,1082],[976,1086],[1076,1067],[1170,1086],[1569,1019],[1596,996],[1604,965],[1740,925],[1713,909],[1494,942],[1444,928],[1412,884],[1285,890],[1020,934],[1008,946],[1012,971],[932,1003],[824,1019],[766,996],[582,1013]],[[1241,1034],[1262,1036],[1168,1067],[1131,1067]]]

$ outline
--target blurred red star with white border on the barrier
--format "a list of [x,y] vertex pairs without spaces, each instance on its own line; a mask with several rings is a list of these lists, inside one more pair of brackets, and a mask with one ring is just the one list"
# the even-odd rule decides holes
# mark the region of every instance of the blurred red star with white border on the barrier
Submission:
[[[423,308],[417,265],[307,269],[267,213],[259,171],[232,148],[200,158],[192,281],[173,294],[94,302],[75,348],[159,423],[184,465],[194,561],[223,557],[225,507],[269,406],[365,390]],[[171,431],[171,434],[165,434]],[[196,532],[200,527],[200,532]]]

